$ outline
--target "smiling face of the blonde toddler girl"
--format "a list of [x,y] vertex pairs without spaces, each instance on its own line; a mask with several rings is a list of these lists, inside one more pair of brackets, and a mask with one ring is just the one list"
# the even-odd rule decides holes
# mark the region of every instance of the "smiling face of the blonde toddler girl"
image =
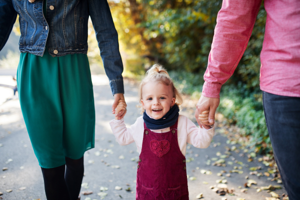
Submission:
[[175,104],[171,85],[165,85],[158,81],[149,81],[142,86],[141,105],[146,113],[159,119],[164,116],[170,107]]

